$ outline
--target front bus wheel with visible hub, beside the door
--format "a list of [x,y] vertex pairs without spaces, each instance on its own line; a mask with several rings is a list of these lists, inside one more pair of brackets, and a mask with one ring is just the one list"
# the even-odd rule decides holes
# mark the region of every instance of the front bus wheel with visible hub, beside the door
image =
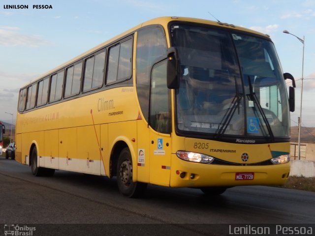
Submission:
[[119,191],[128,198],[142,196],[147,188],[147,183],[132,181],[132,158],[129,148],[124,148],[119,154],[117,184]]

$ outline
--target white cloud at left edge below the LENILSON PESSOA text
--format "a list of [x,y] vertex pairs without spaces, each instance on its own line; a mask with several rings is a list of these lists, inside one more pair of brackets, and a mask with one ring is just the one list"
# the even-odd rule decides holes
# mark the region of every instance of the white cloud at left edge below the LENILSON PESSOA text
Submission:
[[20,28],[1,26],[0,27],[0,46],[5,47],[29,47],[35,48],[40,45],[49,45],[51,42],[42,39],[38,35],[27,35],[18,32]]

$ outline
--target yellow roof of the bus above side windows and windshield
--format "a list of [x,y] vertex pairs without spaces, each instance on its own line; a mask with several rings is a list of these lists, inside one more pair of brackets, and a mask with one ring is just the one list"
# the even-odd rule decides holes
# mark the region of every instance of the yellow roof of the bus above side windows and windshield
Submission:
[[175,16],[158,17],[158,18],[154,18],[154,19],[148,20],[146,22],[143,22],[143,23],[141,23],[141,24],[139,24],[139,25],[137,25],[131,29],[126,30],[125,32],[123,32],[123,33],[121,33],[121,34],[119,34],[119,35],[117,35],[117,36],[115,36],[109,40],[106,40],[105,42],[103,42],[103,43],[95,46],[94,48],[80,54],[79,56],[64,62],[63,64],[57,66],[56,68],[54,68],[50,71],[45,72],[44,74],[41,74],[37,78],[33,79],[31,82],[25,84],[22,88],[25,88],[28,85],[34,83],[35,81],[42,79],[42,78],[44,78],[44,77],[46,77],[46,76],[48,76],[54,72],[57,72],[58,70],[64,68],[65,66],[72,64],[76,60],[83,59],[87,55],[95,52],[97,49],[105,47],[106,45],[110,44],[111,42],[114,42],[114,41],[122,38],[124,35],[127,35],[133,31],[136,31],[137,29],[140,29],[141,27],[145,27],[145,26],[149,26],[149,25],[162,25],[163,27],[166,28],[168,23],[172,22],[172,21],[193,22],[193,23],[201,23],[201,24],[206,24],[206,25],[220,26],[220,27],[229,28],[229,29],[232,28],[232,29],[237,29],[237,30],[241,30],[241,31],[245,31],[245,32],[249,32],[249,33],[253,33],[253,34],[257,34],[257,35],[269,38],[268,34],[263,34],[263,33],[260,33],[258,31],[252,30],[252,29],[238,27],[238,26],[234,26],[232,24],[227,24],[227,23],[222,23],[222,22],[217,22],[217,21],[204,20],[204,19],[198,19],[198,18],[189,18],[189,17],[175,17]]

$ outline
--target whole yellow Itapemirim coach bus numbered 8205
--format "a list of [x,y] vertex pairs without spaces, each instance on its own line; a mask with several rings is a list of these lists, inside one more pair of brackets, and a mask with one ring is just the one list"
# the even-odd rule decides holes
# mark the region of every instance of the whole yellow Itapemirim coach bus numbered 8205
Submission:
[[153,19],[21,88],[16,160],[34,176],[117,177],[127,197],[148,183],[206,194],[284,184],[295,87],[288,96],[285,79],[266,34]]

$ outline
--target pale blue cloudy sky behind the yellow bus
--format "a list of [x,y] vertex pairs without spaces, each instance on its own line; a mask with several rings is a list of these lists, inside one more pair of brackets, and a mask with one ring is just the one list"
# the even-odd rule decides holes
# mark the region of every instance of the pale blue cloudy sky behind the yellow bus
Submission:
[[[4,9],[12,4],[29,9]],[[0,120],[11,122],[4,112],[15,120],[25,83],[97,44],[159,16],[215,20],[208,12],[271,36],[283,71],[297,80],[292,126],[300,111],[303,45],[283,30],[305,36],[302,125],[315,127],[315,0],[0,0]]]

